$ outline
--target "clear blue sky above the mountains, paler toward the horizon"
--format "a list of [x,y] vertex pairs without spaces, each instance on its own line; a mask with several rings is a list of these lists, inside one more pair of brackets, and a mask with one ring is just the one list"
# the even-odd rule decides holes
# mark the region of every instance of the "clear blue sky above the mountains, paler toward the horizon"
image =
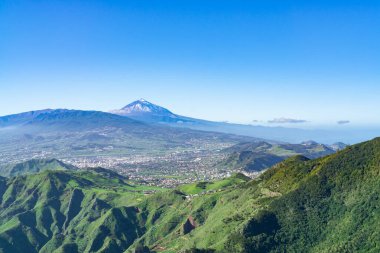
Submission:
[[143,97],[211,120],[380,125],[379,45],[375,0],[2,0],[0,115]]

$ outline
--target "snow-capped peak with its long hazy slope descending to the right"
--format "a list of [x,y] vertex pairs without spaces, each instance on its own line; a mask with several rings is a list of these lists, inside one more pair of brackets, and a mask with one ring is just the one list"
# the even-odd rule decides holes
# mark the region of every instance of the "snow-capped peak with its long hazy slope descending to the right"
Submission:
[[351,137],[351,135],[339,131],[254,126],[195,119],[175,114],[170,110],[150,103],[145,99],[134,101],[122,109],[111,111],[111,113],[147,123],[155,123],[177,128],[230,133],[291,143],[300,143],[305,140],[316,140],[320,143],[334,143],[340,140],[347,140],[349,139],[348,137]]

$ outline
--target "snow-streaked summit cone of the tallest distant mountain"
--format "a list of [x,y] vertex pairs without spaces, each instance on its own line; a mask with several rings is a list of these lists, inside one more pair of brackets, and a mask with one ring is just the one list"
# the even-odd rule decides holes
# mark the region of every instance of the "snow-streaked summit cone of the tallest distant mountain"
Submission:
[[175,114],[173,114],[168,109],[155,105],[153,103],[150,103],[149,101],[143,98],[124,106],[120,110],[114,110],[112,111],[112,113],[123,115],[123,116],[136,116],[136,115],[145,115],[145,114],[160,115],[160,116],[175,116]]

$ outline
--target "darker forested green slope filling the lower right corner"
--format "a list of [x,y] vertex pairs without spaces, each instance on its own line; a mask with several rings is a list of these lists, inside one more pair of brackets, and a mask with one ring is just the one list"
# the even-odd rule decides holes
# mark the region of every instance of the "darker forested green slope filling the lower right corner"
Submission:
[[279,165],[262,183],[279,192],[229,237],[236,252],[379,252],[380,139]]

